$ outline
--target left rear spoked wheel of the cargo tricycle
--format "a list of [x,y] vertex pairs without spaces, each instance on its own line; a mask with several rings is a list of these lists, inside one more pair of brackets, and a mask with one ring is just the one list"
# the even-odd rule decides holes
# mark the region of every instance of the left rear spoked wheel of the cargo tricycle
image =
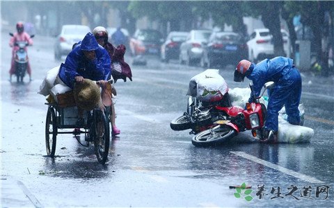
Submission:
[[49,107],[47,109],[47,120],[45,121],[45,145],[47,147],[47,155],[50,157],[54,157],[56,152],[56,138],[56,114],[54,113],[54,108]]

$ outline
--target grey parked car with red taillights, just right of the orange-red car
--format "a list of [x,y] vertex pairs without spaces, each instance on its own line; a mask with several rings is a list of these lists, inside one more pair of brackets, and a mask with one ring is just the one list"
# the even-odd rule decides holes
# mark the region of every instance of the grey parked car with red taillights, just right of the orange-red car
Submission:
[[162,61],[168,62],[170,59],[178,59],[180,55],[180,45],[186,40],[187,32],[170,32],[161,45],[160,57]]

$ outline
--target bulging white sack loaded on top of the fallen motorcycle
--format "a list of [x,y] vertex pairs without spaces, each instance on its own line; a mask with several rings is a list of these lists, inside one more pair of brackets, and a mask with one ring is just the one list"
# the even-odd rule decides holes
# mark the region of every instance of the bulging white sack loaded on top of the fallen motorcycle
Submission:
[[207,69],[191,78],[186,94],[200,101],[215,102],[220,101],[227,92],[228,84],[219,75],[219,70]]

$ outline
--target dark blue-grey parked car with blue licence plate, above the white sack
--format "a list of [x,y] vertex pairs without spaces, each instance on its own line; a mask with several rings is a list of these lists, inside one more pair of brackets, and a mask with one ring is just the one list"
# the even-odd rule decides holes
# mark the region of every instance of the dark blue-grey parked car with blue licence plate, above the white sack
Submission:
[[200,60],[202,67],[210,68],[215,64],[237,64],[239,60],[248,59],[246,40],[238,33],[212,33],[209,43],[203,48]]

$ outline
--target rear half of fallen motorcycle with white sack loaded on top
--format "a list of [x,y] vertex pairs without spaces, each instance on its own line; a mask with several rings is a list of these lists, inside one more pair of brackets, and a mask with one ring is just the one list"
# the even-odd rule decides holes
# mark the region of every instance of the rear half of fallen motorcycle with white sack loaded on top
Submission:
[[210,128],[220,117],[216,106],[230,107],[228,84],[217,69],[207,69],[191,78],[186,112],[170,122],[175,131],[191,129],[189,134],[198,134]]

